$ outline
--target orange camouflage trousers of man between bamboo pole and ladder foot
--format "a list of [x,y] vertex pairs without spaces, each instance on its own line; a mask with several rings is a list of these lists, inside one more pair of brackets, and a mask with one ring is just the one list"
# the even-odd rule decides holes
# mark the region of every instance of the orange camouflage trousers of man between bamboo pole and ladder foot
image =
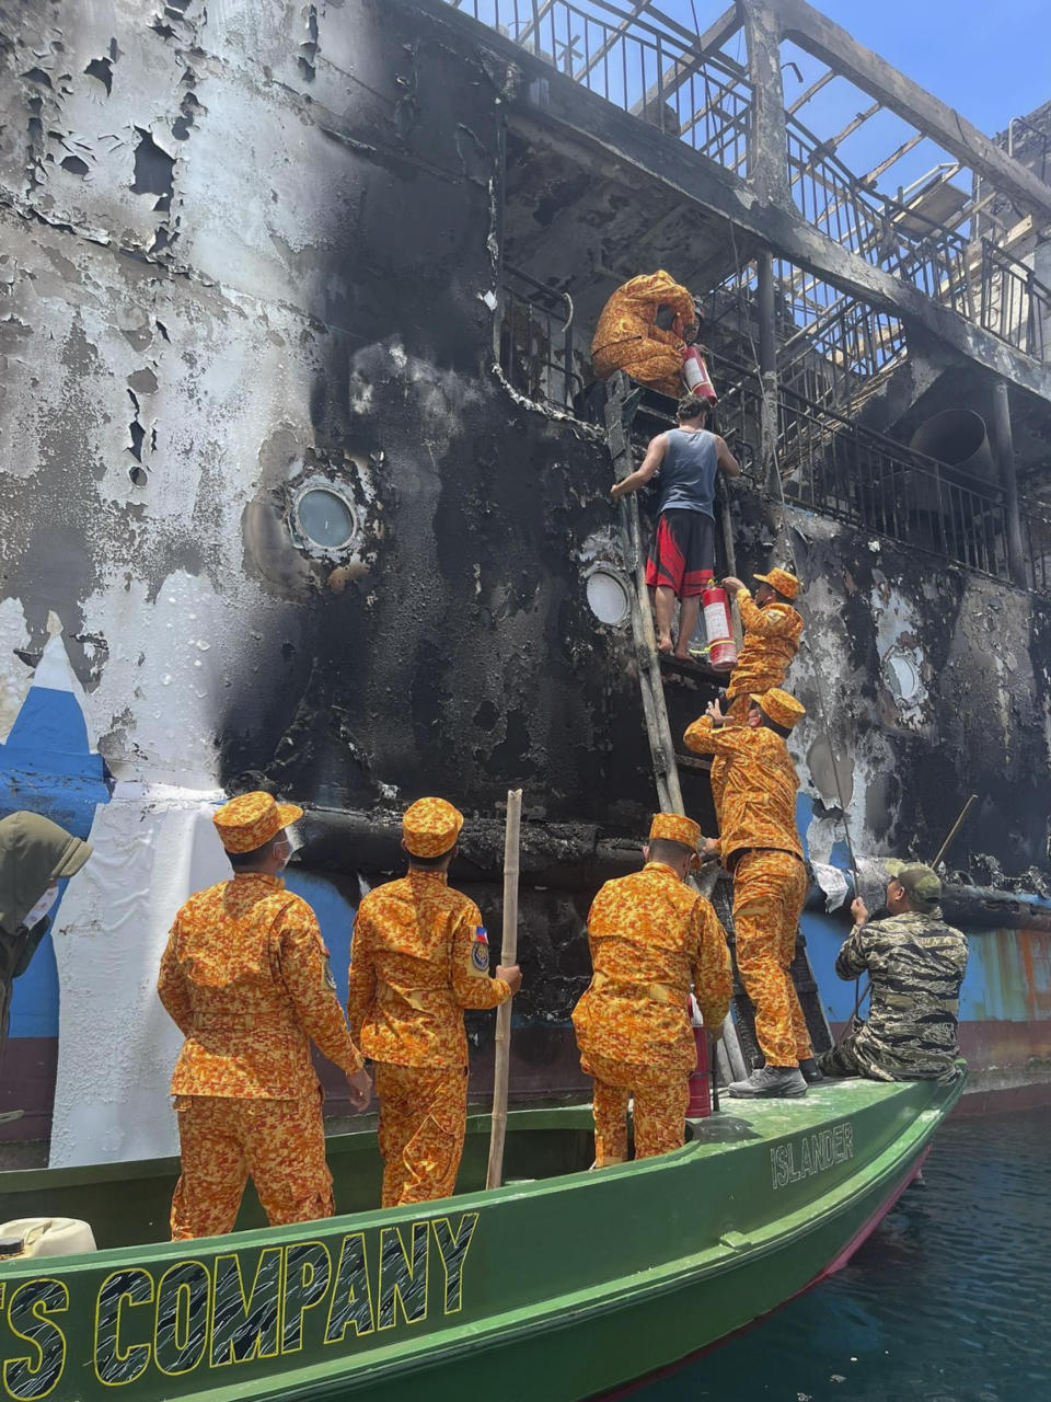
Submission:
[[594,1077],[596,1168],[628,1158],[628,1096],[635,1098],[635,1157],[653,1158],[682,1148],[689,1073],[587,1056],[582,1068]]

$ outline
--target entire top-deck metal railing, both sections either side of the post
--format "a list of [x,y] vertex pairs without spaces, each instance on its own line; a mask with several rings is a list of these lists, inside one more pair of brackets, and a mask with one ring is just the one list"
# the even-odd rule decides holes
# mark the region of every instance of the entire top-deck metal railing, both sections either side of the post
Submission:
[[[747,177],[753,88],[645,0],[446,0],[625,112]],[[789,188],[802,216],[837,244],[1027,355],[1051,350],[1051,292],[966,226],[949,229],[877,195],[792,114]]]

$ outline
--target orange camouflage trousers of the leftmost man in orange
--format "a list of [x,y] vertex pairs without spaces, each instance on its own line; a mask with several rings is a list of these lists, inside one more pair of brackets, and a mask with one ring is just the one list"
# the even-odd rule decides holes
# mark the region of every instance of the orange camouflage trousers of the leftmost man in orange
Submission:
[[251,1175],[270,1227],[331,1217],[321,1095],[254,1101],[177,1095],[182,1173],[171,1200],[171,1239],[234,1230]]

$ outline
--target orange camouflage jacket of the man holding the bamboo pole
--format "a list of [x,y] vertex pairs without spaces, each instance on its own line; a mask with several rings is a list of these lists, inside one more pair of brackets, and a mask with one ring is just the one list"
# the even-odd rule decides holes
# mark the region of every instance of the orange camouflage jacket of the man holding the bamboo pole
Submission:
[[348,1012],[366,1056],[418,1067],[465,1067],[464,1008],[510,998],[489,977],[482,913],[444,872],[409,871],[357,907]]

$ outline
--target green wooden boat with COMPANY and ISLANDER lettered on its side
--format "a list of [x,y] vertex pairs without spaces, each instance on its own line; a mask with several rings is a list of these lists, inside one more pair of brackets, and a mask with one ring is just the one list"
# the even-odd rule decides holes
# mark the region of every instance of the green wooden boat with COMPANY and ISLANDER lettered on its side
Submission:
[[0,1221],[87,1220],[92,1255],[0,1266],[11,1398],[196,1402],[590,1398],[837,1270],[919,1171],[963,1089],[842,1081],[724,1101],[684,1148],[586,1172],[587,1106],[520,1109],[507,1186],[378,1211],[374,1131],[329,1140],[343,1216],[165,1242],[175,1159],[0,1173]]

